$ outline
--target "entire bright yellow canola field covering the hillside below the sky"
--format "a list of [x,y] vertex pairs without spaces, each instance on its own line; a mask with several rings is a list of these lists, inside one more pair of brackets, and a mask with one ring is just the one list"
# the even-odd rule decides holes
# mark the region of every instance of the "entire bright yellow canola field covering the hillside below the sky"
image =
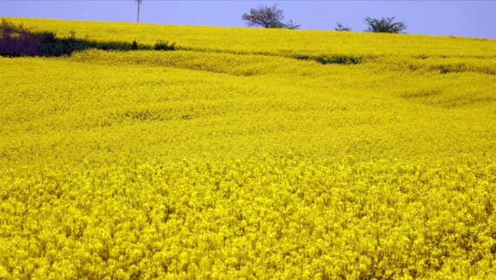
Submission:
[[8,18],[0,279],[493,279],[496,40]]

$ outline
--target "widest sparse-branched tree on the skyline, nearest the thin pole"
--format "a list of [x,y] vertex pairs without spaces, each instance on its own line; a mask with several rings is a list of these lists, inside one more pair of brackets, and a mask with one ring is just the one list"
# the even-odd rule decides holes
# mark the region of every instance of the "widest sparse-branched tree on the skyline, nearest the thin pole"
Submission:
[[251,8],[249,14],[245,13],[241,19],[248,26],[261,26],[264,28],[287,28],[298,29],[301,25],[296,25],[293,20],[283,23],[284,11],[277,8],[277,4],[273,6],[261,5],[259,8]]

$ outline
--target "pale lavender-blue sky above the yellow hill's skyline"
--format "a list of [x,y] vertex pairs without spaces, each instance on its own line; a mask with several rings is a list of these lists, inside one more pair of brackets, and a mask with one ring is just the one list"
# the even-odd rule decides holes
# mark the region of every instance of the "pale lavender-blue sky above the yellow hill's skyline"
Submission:
[[[301,29],[334,29],[336,22],[363,31],[366,16],[395,15],[411,34],[496,39],[496,1],[153,1],[143,0],[140,22],[244,27],[243,13],[279,4]],[[0,17],[136,22],[135,0],[0,0]]]

